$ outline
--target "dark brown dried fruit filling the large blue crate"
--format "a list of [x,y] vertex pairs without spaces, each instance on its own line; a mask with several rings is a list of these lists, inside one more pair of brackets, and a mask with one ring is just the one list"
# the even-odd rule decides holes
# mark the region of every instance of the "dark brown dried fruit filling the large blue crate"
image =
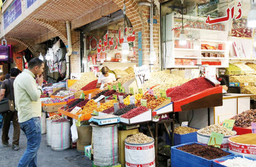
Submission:
[[201,144],[187,144],[185,146],[178,147],[177,149],[185,152],[189,152],[190,154],[194,154],[208,160],[213,160],[220,157],[225,157],[230,155],[230,153],[223,151],[222,149],[213,147],[213,146],[205,146]]

